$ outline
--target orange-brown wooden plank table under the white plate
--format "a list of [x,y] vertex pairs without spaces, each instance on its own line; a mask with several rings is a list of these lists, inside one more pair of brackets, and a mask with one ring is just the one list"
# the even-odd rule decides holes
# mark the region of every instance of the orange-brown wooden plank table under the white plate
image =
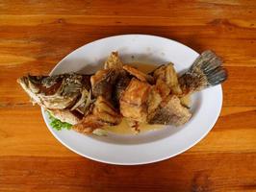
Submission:
[[[79,46],[121,34],[166,36],[225,60],[221,115],[186,153],[141,166],[78,156],[16,84],[28,72],[48,74]],[[1,1],[0,191],[256,191],[256,2]]]

